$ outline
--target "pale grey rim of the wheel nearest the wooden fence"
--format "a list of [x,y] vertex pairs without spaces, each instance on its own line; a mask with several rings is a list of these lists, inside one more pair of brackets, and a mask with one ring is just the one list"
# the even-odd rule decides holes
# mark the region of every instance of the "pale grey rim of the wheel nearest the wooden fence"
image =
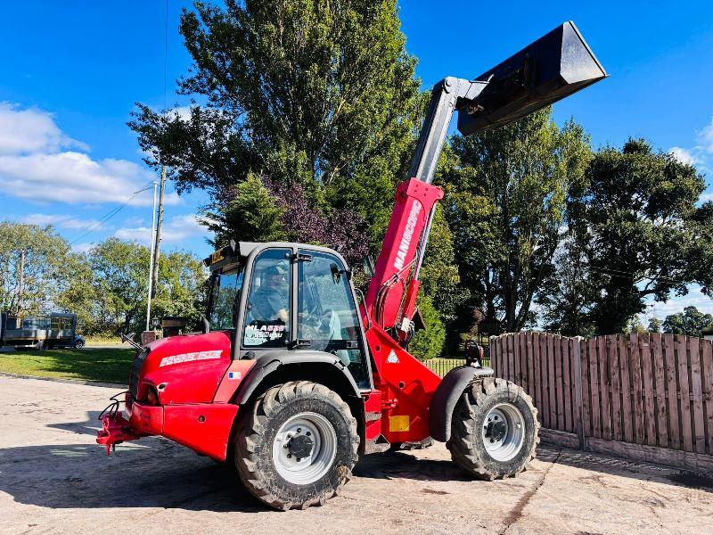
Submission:
[[496,461],[509,461],[525,442],[525,418],[512,403],[499,403],[488,411],[482,434],[488,455]]

